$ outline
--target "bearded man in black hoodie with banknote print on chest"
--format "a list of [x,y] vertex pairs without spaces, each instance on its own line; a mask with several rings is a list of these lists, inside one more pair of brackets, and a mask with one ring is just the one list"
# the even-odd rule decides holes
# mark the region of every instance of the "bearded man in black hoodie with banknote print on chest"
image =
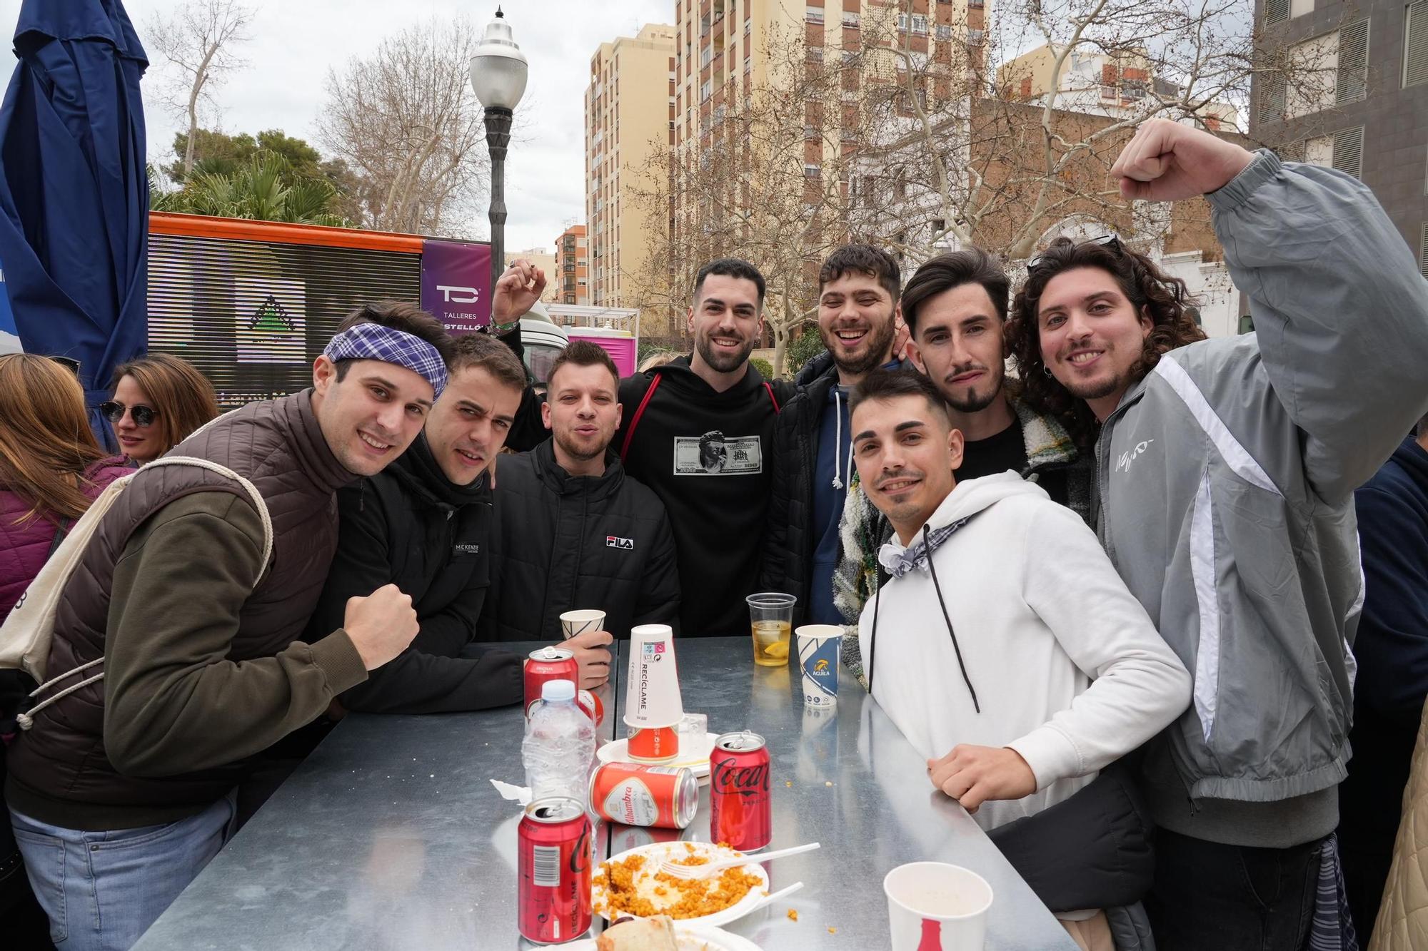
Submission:
[[680,635],[748,634],[773,476],[770,441],[793,384],[748,363],[764,330],[764,276],[748,261],[700,268],[694,353],[620,381],[625,471],[670,513],[680,564]]

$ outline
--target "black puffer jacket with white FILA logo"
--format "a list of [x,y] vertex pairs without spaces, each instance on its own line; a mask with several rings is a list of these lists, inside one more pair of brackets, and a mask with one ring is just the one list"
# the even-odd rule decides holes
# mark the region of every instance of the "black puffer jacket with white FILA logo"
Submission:
[[481,637],[560,640],[564,611],[605,613],[605,630],[680,628],[680,577],[664,504],[625,476],[614,454],[603,476],[567,476],[547,440],[497,464],[491,590]]

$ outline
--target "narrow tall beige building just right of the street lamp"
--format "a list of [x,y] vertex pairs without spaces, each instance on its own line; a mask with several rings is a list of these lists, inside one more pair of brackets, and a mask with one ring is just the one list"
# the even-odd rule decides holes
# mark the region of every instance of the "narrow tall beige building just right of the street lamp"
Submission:
[[590,303],[634,307],[635,276],[648,257],[645,234],[664,221],[634,197],[648,188],[651,153],[674,139],[674,27],[647,24],[634,37],[601,43],[585,90],[585,223]]

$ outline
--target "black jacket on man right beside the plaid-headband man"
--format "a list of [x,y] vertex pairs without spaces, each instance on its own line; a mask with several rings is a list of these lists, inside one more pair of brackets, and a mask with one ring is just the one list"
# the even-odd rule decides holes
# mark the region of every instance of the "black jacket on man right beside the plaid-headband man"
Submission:
[[[411,595],[420,630],[396,660],[340,698],[368,713],[450,713],[521,698],[521,658],[488,650],[473,657],[490,587],[491,490],[486,477],[454,485],[423,433],[391,466],[338,490],[337,554],[311,630],[341,627],[347,598],[384,584]],[[328,625],[324,628],[324,625]]]

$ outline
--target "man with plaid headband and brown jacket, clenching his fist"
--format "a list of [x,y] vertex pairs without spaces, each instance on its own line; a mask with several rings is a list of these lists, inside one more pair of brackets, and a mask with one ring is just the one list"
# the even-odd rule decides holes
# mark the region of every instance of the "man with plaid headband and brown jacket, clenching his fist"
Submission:
[[267,561],[264,517],[223,473],[146,467],[104,514],[49,660],[51,675],[103,663],[103,680],[37,711],[9,750],[11,824],[66,948],[130,947],[231,832],[257,754],[416,635],[411,598],[387,584],[301,640],[337,548],[337,488],[417,437],[450,348],[411,304],[360,307],[311,388],[221,416],[173,450],[251,481]]

